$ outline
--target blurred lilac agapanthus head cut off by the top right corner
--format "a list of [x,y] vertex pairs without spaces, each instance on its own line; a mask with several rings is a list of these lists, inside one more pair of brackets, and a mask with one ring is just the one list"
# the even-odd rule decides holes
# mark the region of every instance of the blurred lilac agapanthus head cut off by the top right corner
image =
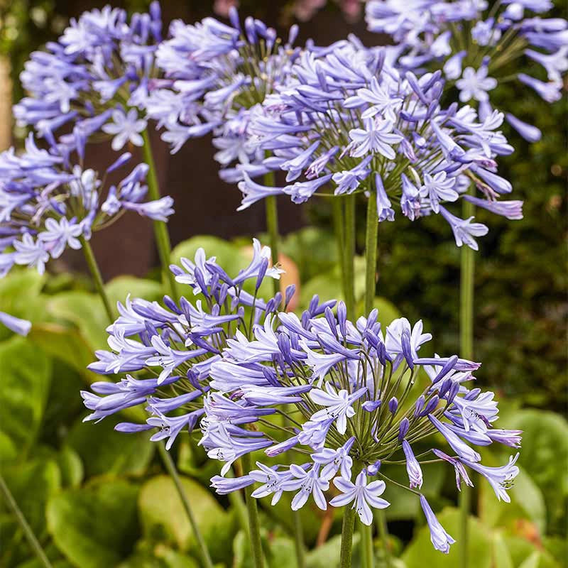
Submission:
[[[480,111],[488,113],[492,89],[513,79],[547,102],[561,97],[568,21],[546,17],[551,8],[548,0],[371,0],[366,21],[369,30],[391,35],[400,46],[403,69],[442,69],[462,102],[479,102]],[[542,67],[541,72],[528,65],[535,77],[518,72],[530,62]],[[540,139],[535,126],[511,114],[506,120],[526,140]]]

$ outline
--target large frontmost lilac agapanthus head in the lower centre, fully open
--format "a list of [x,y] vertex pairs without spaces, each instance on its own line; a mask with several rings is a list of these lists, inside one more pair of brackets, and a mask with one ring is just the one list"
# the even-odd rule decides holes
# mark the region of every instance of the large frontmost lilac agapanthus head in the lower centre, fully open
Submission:
[[[382,466],[405,466],[408,491],[420,498],[432,542],[448,552],[454,540],[417,491],[427,473],[421,459],[432,452],[466,484],[471,484],[466,471],[478,471],[503,499],[518,473],[516,458],[502,468],[482,466],[470,445],[508,437],[500,430],[491,437],[498,417],[493,393],[466,386],[480,364],[455,355],[422,357],[432,339],[422,333],[422,322],[394,320],[383,339],[377,310],[351,322],[344,304],[339,302],[337,313],[334,304],[312,302],[301,317],[271,313],[253,326],[251,336],[227,341],[211,365],[201,419],[200,444],[223,464],[212,486],[227,493],[258,482],[253,497],[278,500],[290,491],[293,509],[310,499],[321,509],[352,506],[369,525],[372,508],[389,506],[388,487],[394,484]],[[420,368],[431,379],[425,387],[417,381]],[[510,431],[509,437],[518,434]],[[423,451],[439,440],[448,454],[432,446]],[[227,464],[259,449],[277,464],[269,467],[259,459],[261,471],[223,481]],[[334,496],[331,485],[341,494]]]

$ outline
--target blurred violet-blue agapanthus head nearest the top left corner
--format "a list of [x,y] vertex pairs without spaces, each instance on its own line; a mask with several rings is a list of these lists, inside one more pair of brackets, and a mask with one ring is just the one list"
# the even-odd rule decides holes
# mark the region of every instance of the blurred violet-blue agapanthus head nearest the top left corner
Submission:
[[28,96],[13,109],[18,124],[53,139],[70,123],[80,151],[95,133],[96,138],[114,135],[115,150],[127,141],[142,146],[146,119],[138,108],[156,74],[160,17],[155,1],[148,13],[135,13],[130,20],[125,10],[111,6],[72,18],[56,42],[26,62],[20,79]]

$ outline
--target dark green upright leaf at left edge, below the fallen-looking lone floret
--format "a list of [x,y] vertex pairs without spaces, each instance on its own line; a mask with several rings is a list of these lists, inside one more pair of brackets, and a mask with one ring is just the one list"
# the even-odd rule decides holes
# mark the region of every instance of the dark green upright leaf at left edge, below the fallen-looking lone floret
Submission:
[[23,337],[0,344],[1,430],[26,452],[38,436],[48,399],[51,364],[43,351]]

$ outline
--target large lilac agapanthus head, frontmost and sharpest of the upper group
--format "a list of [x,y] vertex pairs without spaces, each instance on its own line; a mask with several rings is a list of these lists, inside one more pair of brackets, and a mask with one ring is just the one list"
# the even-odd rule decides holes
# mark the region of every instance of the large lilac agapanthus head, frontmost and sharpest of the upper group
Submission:
[[[250,143],[271,155],[237,166],[241,208],[278,192],[298,203],[359,193],[376,200],[380,221],[393,221],[397,203],[414,220],[441,213],[471,184],[491,201],[510,192],[496,174],[496,157],[513,152],[499,130],[503,114],[481,120],[469,106],[444,109],[441,72],[417,77],[390,59],[391,48],[369,50],[355,38],[303,52],[251,116]],[[283,170],[288,184],[254,180],[271,170]],[[458,245],[475,248],[482,232],[471,227]]]

